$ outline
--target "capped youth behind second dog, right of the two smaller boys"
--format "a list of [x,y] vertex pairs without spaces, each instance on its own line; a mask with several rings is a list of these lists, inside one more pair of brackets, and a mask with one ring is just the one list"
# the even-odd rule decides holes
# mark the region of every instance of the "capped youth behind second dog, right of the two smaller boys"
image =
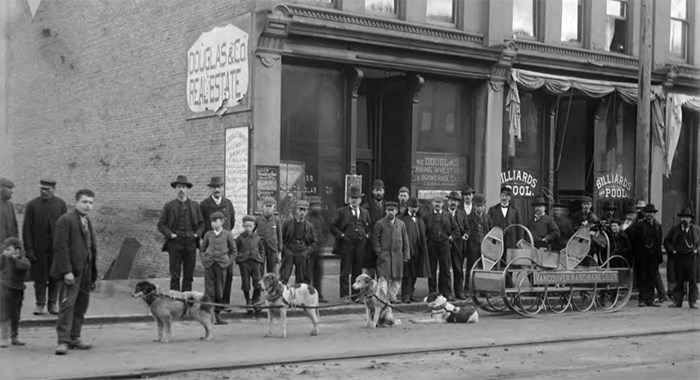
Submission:
[[255,220],[255,231],[265,247],[265,273],[278,273],[277,264],[282,260],[282,222],[274,214],[276,202],[271,197],[263,199],[263,213]]

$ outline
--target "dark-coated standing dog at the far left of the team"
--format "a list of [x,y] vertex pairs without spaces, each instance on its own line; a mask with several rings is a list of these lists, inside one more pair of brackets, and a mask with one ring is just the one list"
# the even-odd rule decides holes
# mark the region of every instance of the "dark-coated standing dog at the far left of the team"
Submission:
[[168,343],[172,336],[170,325],[173,319],[193,317],[204,327],[204,336],[199,338],[211,340],[214,311],[211,305],[202,305],[200,302],[212,302],[201,292],[177,292],[170,290],[160,293],[151,282],[141,281],[136,284],[132,297],[141,298],[148,311],[158,325],[158,340],[156,342]]

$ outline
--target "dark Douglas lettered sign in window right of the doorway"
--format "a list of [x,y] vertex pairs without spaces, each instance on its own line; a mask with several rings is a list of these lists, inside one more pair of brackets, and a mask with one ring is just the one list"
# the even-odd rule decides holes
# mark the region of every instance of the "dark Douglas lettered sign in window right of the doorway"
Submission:
[[455,190],[467,185],[467,157],[416,152],[412,187]]

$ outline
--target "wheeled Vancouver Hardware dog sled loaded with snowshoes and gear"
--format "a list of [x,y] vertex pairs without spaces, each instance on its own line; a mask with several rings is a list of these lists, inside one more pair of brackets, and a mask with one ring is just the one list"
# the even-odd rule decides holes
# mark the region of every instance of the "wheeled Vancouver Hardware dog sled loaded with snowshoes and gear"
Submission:
[[[511,228],[523,229],[528,239],[504,252],[503,236]],[[532,233],[523,225],[494,227],[471,268],[472,300],[488,312],[525,317],[618,311],[632,295],[632,268],[624,257],[610,256],[605,233],[596,238],[607,250],[602,263],[590,254],[593,236],[588,227],[576,231],[559,252],[535,248]]]

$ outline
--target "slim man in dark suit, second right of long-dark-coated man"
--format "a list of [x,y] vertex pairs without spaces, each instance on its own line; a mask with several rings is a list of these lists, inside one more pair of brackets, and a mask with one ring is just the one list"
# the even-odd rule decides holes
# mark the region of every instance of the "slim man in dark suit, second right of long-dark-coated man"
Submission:
[[447,196],[447,211],[450,214],[450,221],[456,229],[456,235],[450,245],[450,260],[452,261],[452,275],[454,276],[454,295],[459,300],[465,300],[464,258],[466,257],[466,246],[469,240],[469,219],[466,211],[459,208],[461,200],[462,196],[458,191],[451,191]]

